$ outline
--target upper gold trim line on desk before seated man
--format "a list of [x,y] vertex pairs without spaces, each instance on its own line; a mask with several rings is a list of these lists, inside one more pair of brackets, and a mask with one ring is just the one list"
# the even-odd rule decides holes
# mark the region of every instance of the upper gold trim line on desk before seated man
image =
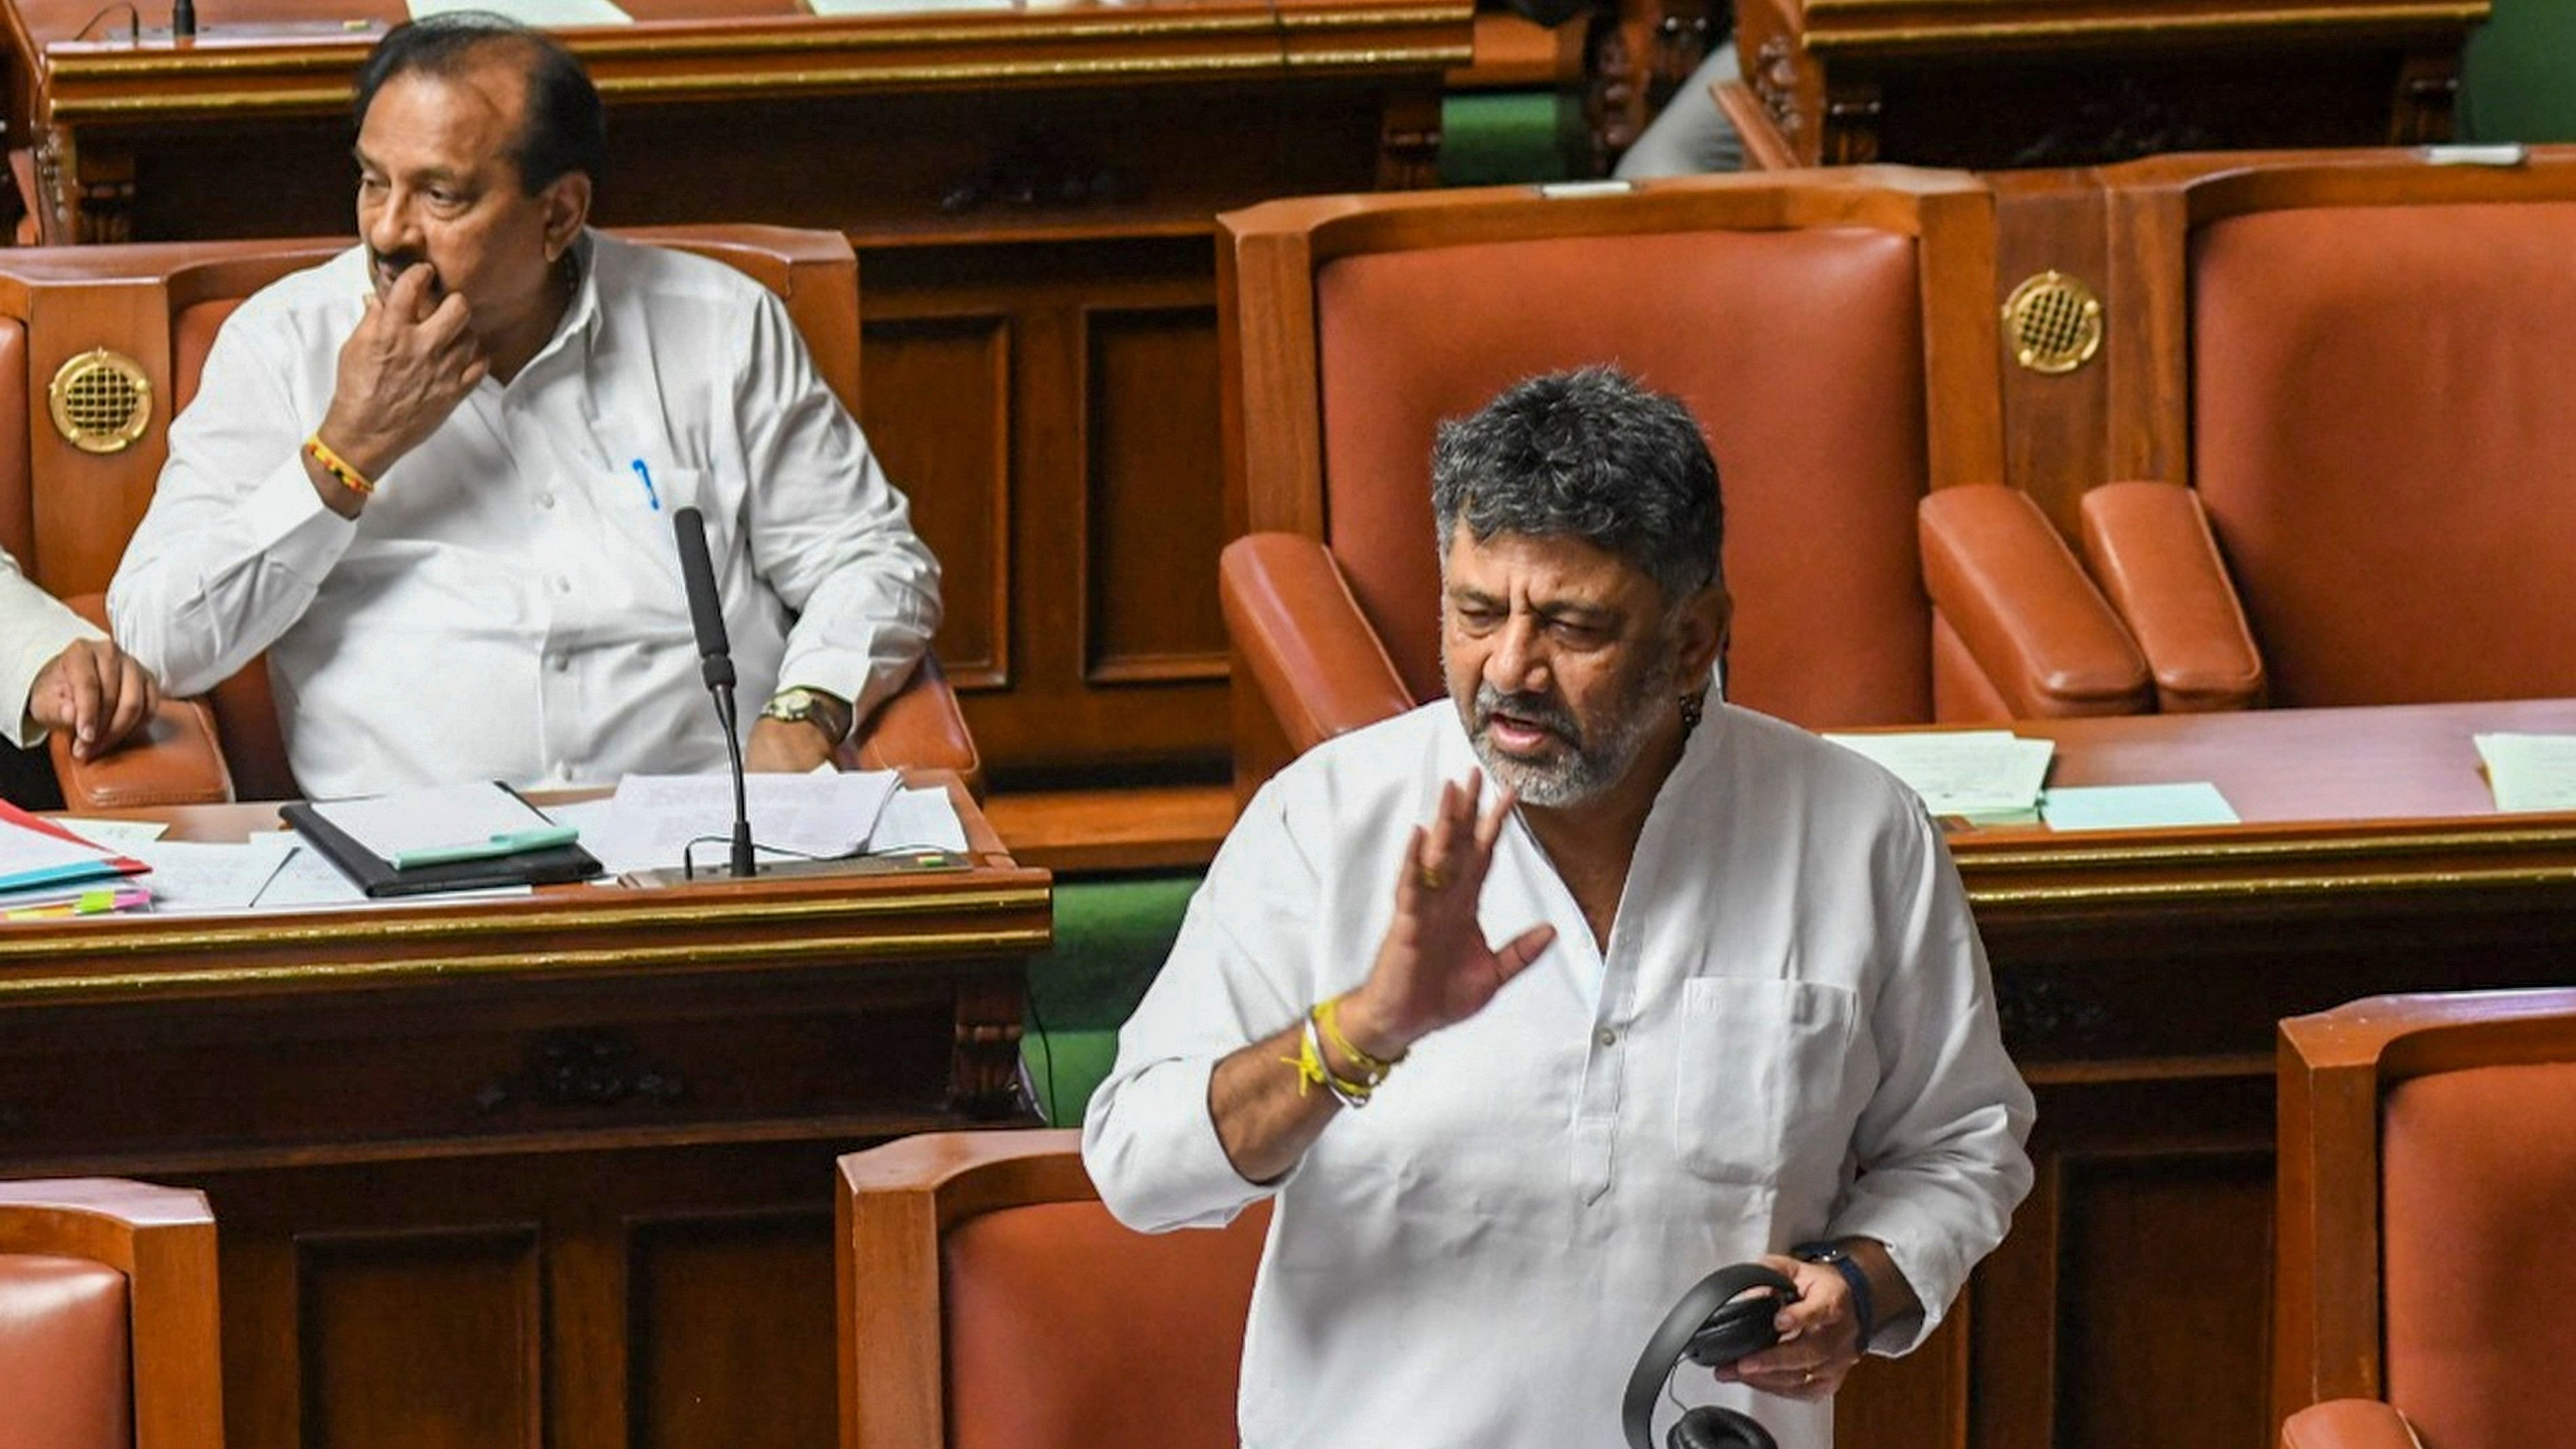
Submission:
[[[170,929],[118,929],[121,921],[90,921],[80,934],[64,932],[0,932],[0,968],[23,957],[118,957],[152,952],[201,952],[240,947],[335,947],[335,945],[399,945],[448,942],[471,937],[510,937],[528,932],[608,932],[608,929],[680,929],[680,927],[791,927],[806,921],[863,921],[884,916],[971,914],[994,916],[1002,911],[1048,911],[1054,891],[1048,885],[1005,885],[994,891],[935,891],[904,896],[814,896],[791,901],[693,901],[672,906],[580,906],[554,911],[471,911],[464,916],[428,914],[428,919],[386,919],[368,911],[355,919],[299,916],[312,924],[281,927],[276,919],[232,916],[227,927],[209,929],[204,919],[188,919]],[[283,919],[283,916],[281,916]],[[152,921],[139,916],[137,924]],[[234,924],[237,921],[237,924]],[[93,934],[95,932],[95,934]],[[778,950],[762,942],[760,950]],[[0,991],[8,991],[0,978]]]

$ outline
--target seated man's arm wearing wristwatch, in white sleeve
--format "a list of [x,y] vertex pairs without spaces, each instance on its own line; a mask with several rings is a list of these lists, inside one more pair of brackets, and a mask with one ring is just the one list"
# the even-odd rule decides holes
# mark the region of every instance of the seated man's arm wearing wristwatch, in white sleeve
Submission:
[[[750,453],[744,528],[752,569],[796,610],[778,687],[819,690],[848,703],[853,723],[866,721],[930,649],[940,564],[912,533],[912,510],[858,422],[814,371],[786,304],[762,293],[744,332],[734,373]],[[835,744],[814,726],[762,718],[744,764],[811,770]]]

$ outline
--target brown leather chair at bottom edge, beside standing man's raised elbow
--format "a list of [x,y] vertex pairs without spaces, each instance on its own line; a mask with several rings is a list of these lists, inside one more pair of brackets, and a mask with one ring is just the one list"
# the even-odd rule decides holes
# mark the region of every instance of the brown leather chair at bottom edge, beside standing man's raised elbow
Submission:
[[1267,1233],[1121,1228],[1072,1130],[840,1158],[840,1449],[1234,1444]]

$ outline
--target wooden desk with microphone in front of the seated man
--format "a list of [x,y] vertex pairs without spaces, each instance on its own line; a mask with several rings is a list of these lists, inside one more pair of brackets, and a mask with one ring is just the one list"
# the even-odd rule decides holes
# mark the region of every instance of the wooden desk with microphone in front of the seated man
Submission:
[[0,927],[0,1174],[206,1192],[232,1449],[829,1444],[832,1158],[1033,1120],[951,795],[966,872]]

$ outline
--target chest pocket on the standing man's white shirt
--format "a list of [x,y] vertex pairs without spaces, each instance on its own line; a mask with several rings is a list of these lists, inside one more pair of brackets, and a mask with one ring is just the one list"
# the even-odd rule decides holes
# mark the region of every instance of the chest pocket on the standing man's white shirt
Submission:
[[1814,981],[1692,975],[1682,983],[1672,1132],[1682,1166],[1777,1184],[1793,1150],[1842,1153],[1837,1104],[1857,999]]

